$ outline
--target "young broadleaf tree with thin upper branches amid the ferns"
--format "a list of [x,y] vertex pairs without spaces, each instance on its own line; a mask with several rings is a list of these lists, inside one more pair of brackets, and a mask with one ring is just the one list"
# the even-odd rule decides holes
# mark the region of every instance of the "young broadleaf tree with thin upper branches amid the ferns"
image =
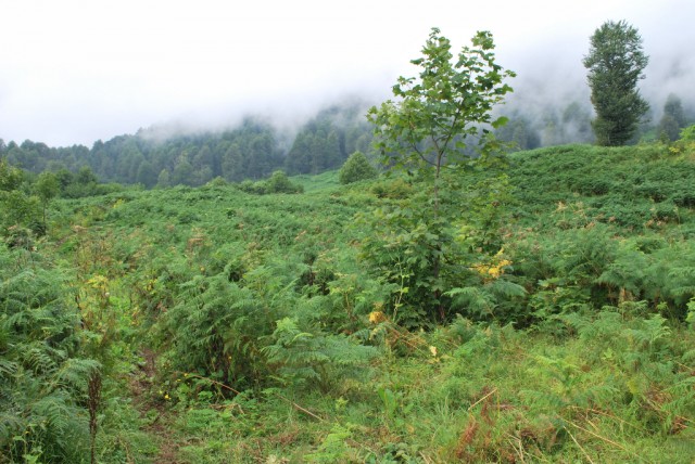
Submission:
[[[467,169],[491,167],[500,154],[490,128],[506,118],[493,120],[491,112],[511,91],[503,80],[514,73],[494,62],[490,33],[471,42],[454,56],[448,39],[433,28],[422,57],[410,62],[420,68],[418,77],[400,77],[395,100],[367,116],[389,173],[405,171],[421,186],[410,202],[378,208],[366,221],[372,234],[364,244],[376,274],[394,287],[394,307],[414,325],[428,312],[446,320],[445,296],[465,279],[471,259],[455,240],[469,201],[459,182]],[[470,155],[470,145],[478,156]]]

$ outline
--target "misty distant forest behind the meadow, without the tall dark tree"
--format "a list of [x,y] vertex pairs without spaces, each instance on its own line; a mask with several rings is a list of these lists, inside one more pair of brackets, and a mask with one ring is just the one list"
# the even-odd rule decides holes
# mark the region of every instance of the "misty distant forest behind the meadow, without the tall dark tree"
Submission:
[[[522,82],[522,78],[518,80]],[[506,126],[494,130],[498,139],[511,142],[513,150],[596,141],[589,98],[578,91],[557,96],[540,90],[520,83],[507,103],[495,109],[496,116],[508,118]],[[664,101],[650,101],[650,123],[637,125],[631,140],[677,140],[680,130],[695,121],[695,104],[687,100],[686,90]],[[202,185],[215,178],[256,181],[276,170],[319,173],[340,168],[357,151],[371,160],[377,157],[371,126],[365,117],[372,103],[352,100],[332,104],[291,130],[249,116],[225,130],[152,127],[99,140],[91,147],[51,147],[30,140],[5,143],[0,139],[0,157],[29,172],[55,172],[61,196],[68,197],[94,194],[98,182],[152,189]]]

